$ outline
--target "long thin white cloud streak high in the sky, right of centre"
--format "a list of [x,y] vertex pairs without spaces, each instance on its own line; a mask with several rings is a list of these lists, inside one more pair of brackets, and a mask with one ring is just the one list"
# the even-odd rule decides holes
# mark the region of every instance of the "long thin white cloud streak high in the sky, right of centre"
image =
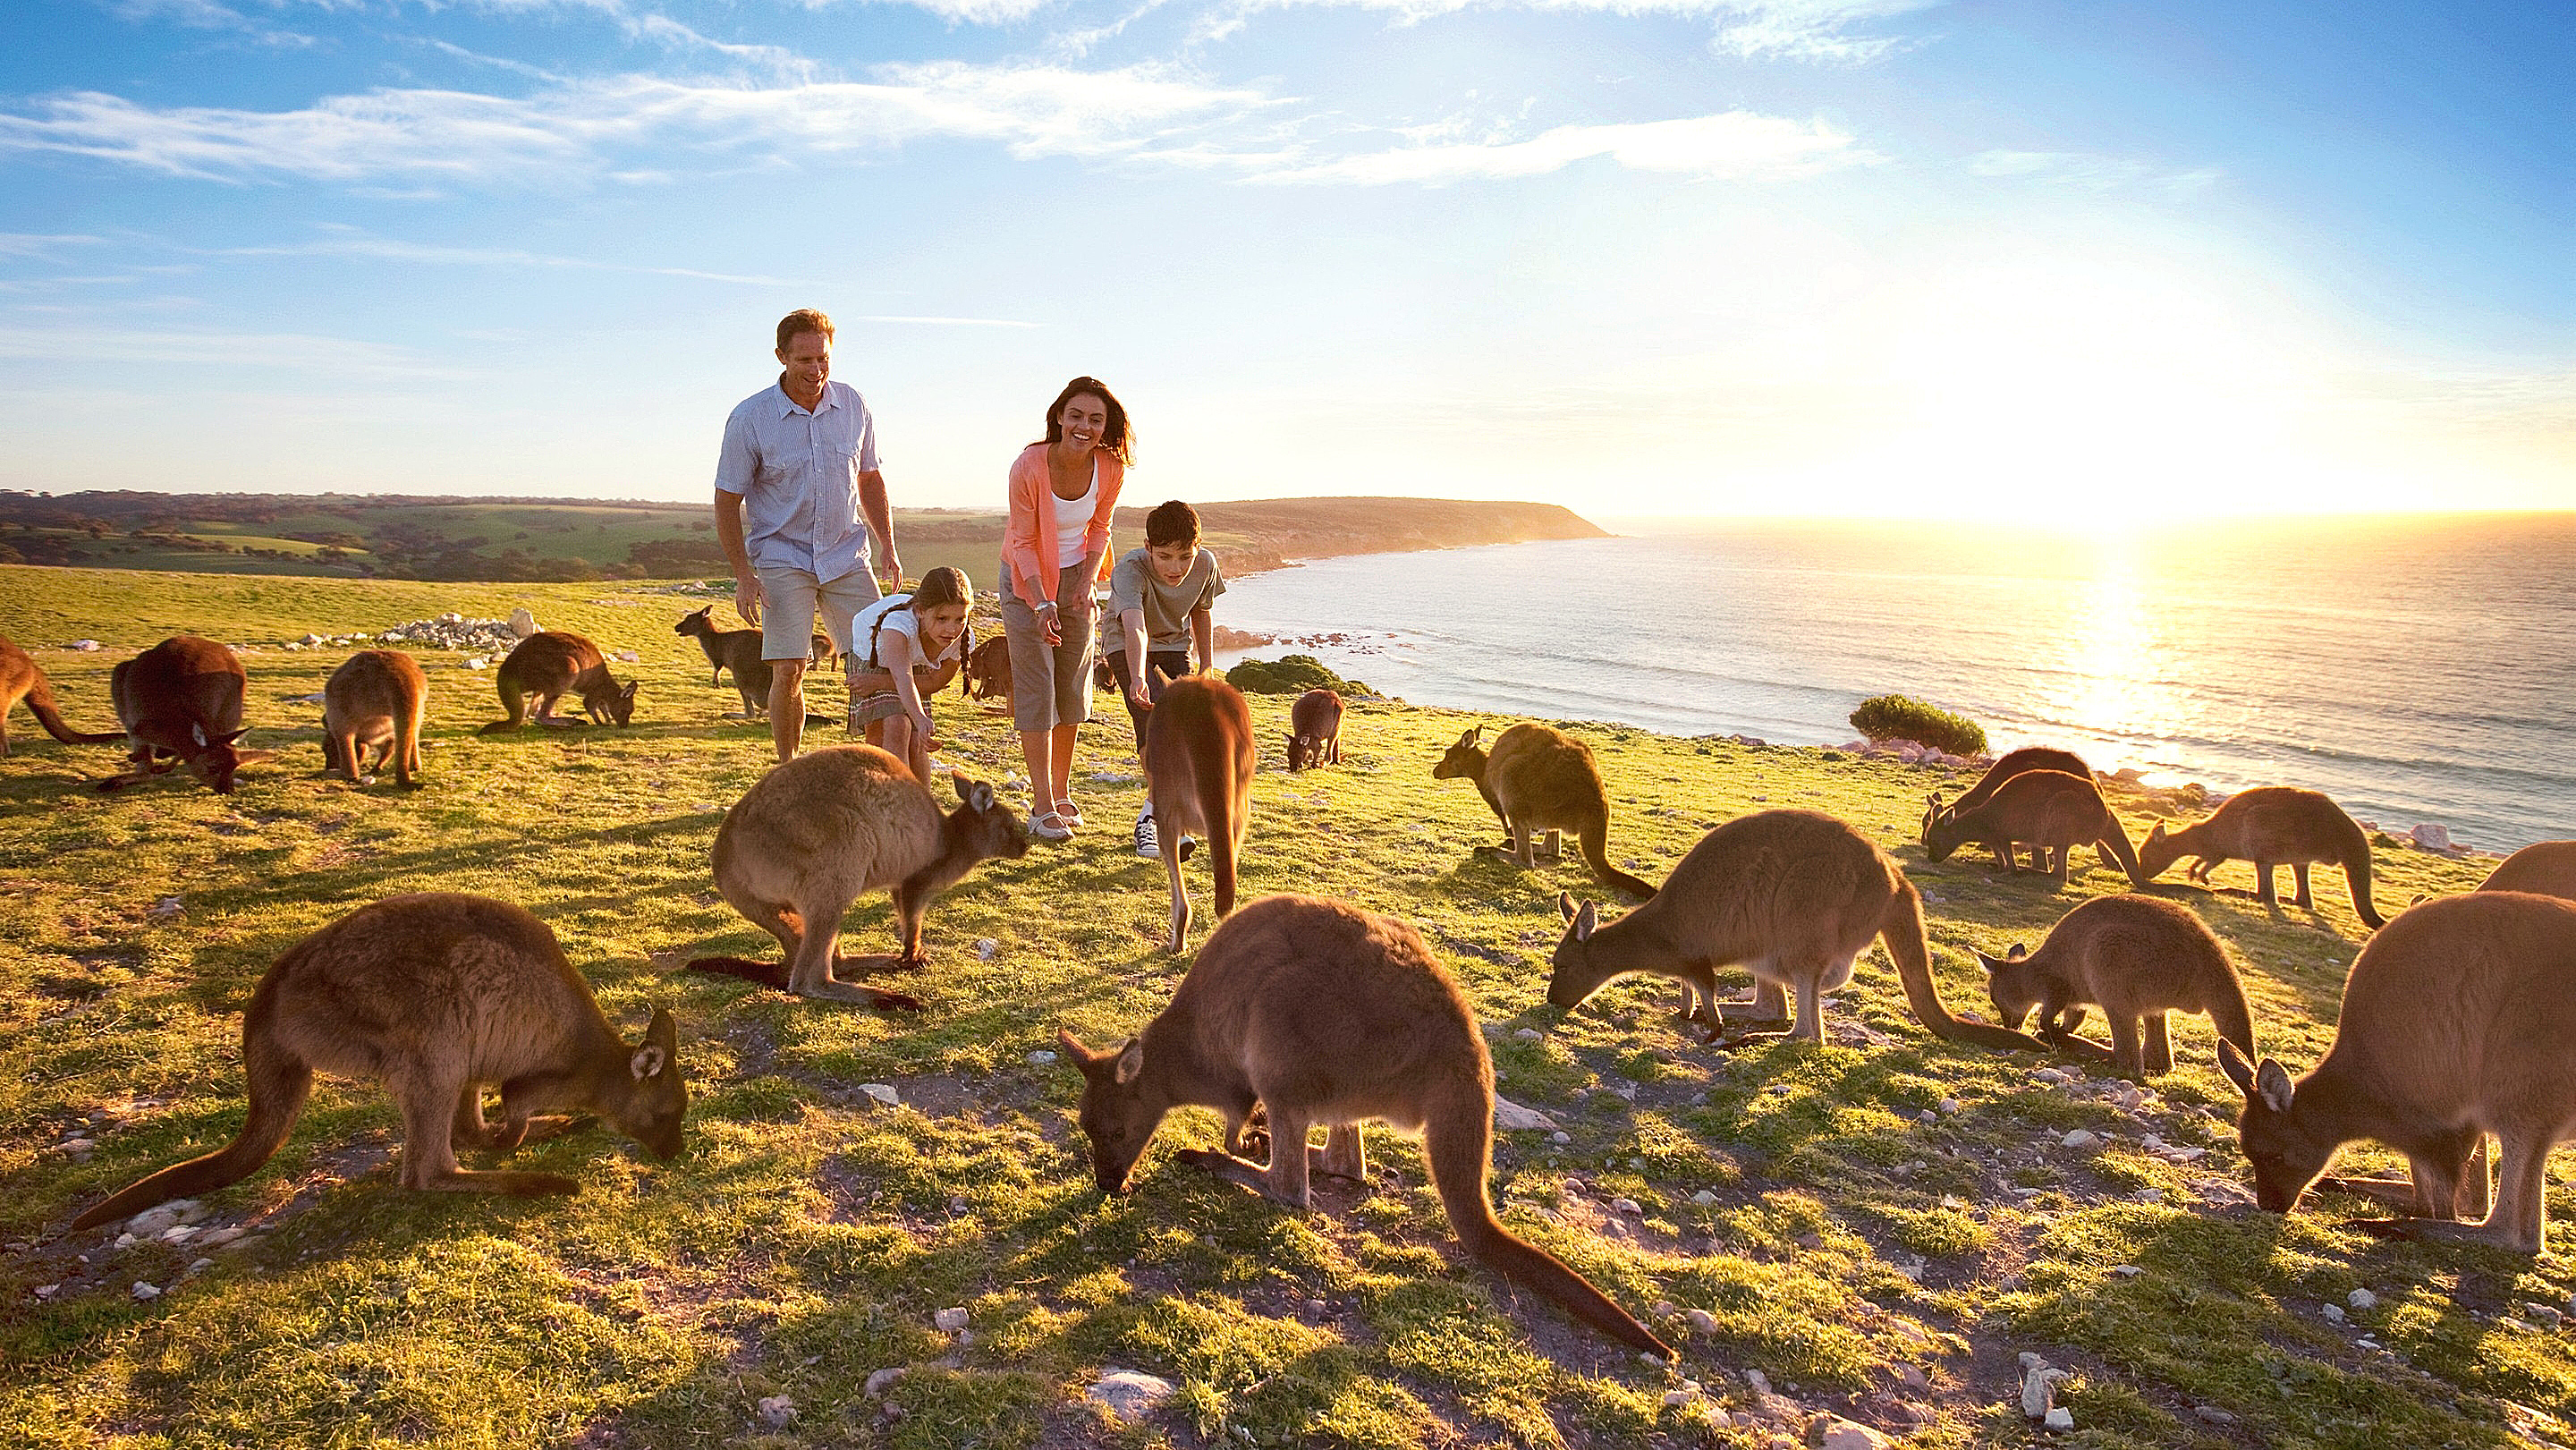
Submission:
[[1528,142],[1396,147],[1257,173],[1265,183],[1453,183],[1543,175],[1607,157],[1628,170],[1721,180],[1793,180],[1886,157],[1821,121],[1726,111],[1677,121],[1556,126]]

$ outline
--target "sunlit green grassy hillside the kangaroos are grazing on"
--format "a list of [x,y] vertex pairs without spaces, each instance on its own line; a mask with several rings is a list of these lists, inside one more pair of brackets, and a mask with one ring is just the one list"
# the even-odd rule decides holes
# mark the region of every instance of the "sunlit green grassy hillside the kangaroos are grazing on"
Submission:
[[[252,744],[281,760],[216,798],[185,783],[95,796],[103,747],[13,721],[0,762],[0,1424],[18,1445],[1726,1445],[1819,1411],[1914,1445],[2043,1440],[2017,1352],[2076,1373],[2050,1445],[2509,1445],[2566,1440],[2576,1352],[2550,1313],[2558,1257],[2380,1244],[2257,1213],[2233,1092],[2202,1020],[2182,1069],[2133,1092],[1927,1038],[1873,950],[1832,1040],[1708,1048],[1672,992],[1543,1002],[1556,891],[1473,855],[1492,816],[1435,783],[1473,719],[1355,706],[1345,765],[1280,770],[1285,698],[1257,698],[1262,767],[1247,891],[1319,891],[1417,922],[1489,1025],[1502,1092],[1566,1141],[1504,1133],[1504,1218],[1636,1311],[1669,1303],[1659,1368],[1515,1295],[1448,1236],[1419,1154],[1381,1138],[1370,1192],[1324,1182],[1285,1216],[1175,1164],[1216,1123],[1177,1115],[1103,1200],[1054,1028],[1113,1043],[1170,999],[1162,868],[1126,850],[1139,804],[1123,724],[1084,737],[1095,827],[969,876],[930,917],[917,1017],[817,1007],[677,974],[770,943],[716,899],[716,822],[765,734],[719,719],[672,595],[603,585],[392,585],[0,569],[0,631],[36,646],[67,713],[106,721],[106,670],[173,628],[237,644],[438,610],[541,621],[631,646],[639,724],[474,737],[489,677],[428,652],[428,786],[317,778],[317,693],[337,654],[247,652]],[[111,649],[49,649],[90,636]],[[948,757],[1002,778],[1007,721],[956,695]],[[1577,726],[1613,786],[1613,858],[1662,878],[1765,806],[1834,811],[1896,850],[1932,912],[1942,992],[1984,994],[1965,950],[2035,943],[2120,881],[2084,852],[2063,899],[1909,837],[1937,770]],[[2120,798],[2133,832],[2164,811]],[[2483,863],[2380,850],[2380,901],[2476,883]],[[1206,871],[1190,873],[1206,907]],[[2221,871],[2244,886],[2246,868]],[[2295,1066],[2331,1035],[2360,927],[2334,873],[2321,912],[2166,886],[2228,940],[2259,1030]],[[690,1151],[654,1164],[603,1131],[520,1154],[569,1200],[407,1195],[389,1100],[325,1079],[289,1146],[206,1198],[222,1249],[62,1226],[103,1192],[224,1144],[242,1118],[240,1010],[281,948],[394,891],[464,889],[554,925],[623,1030],[683,1025]],[[886,904],[853,912],[886,950]],[[976,950],[989,940],[989,956]],[[2069,1064],[2056,1064],[2069,1066]],[[878,1107],[860,1084],[891,1084]],[[2061,1146],[2069,1128],[2102,1151]],[[2146,1136],[2197,1162],[2146,1149]],[[2349,1162],[2385,1164],[2383,1154]],[[1623,1203],[1625,1200],[1625,1203]],[[2553,1185],[2563,1223],[2571,1200]],[[198,1272],[193,1262],[209,1259]],[[2136,1272],[2130,1272],[2136,1270]],[[137,1298],[134,1285],[162,1290]],[[49,1288],[52,1285],[52,1288]],[[46,1290],[41,1293],[39,1290]],[[2329,1324],[2370,1288],[2378,1306]],[[2522,1308],[2540,1303],[2543,1311]],[[971,1337],[933,1329],[971,1311]],[[1692,1329],[1680,1311],[1703,1311]],[[2365,1337],[2367,1334],[2367,1337]],[[1082,1401],[1105,1368],[1180,1393],[1139,1427]],[[876,1370],[907,1375],[878,1398]],[[1747,1373],[1767,1375],[1759,1398]],[[760,1422],[788,1396],[793,1419]],[[1736,1424],[1734,1414],[1749,1419]],[[1775,1419],[1754,1419],[1772,1414]]]

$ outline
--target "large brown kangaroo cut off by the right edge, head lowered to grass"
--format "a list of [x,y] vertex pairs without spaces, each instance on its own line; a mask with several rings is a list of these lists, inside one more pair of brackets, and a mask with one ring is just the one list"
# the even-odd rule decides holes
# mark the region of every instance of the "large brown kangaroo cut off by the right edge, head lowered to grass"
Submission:
[[[2218,1043],[2246,1095],[2254,1200],[2287,1213],[2336,1149],[2375,1138],[2406,1154],[2416,1216],[2362,1229],[2537,1254],[2550,1149],[2576,1128],[2571,1043],[2576,901],[2470,891],[2398,912],[2354,958],[2313,1071],[2290,1082],[2280,1061]],[[2501,1192],[2483,1223],[2460,1223],[2486,1198],[2486,1133],[2504,1149]]]

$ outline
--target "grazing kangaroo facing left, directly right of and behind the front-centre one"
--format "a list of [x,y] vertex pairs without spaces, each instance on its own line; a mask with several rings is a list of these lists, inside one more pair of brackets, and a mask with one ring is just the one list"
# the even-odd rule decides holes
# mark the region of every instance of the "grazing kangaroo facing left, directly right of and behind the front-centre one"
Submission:
[[[1798,994],[1790,1035],[1824,1040],[1824,994],[1852,979],[1852,961],[1870,937],[1888,945],[1914,1020],[1937,1038],[1989,1048],[2048,1051],[2048,1043],[1963,1022],[1932,984],[1932,948],[1922,899],[1888,852],[1819,811],[1759,811],[1700,837],[1672,868],[1664,889],[1615,922],[1600,922],[1558,896],[1569,925],[1556,943],[1548,1002],[1582,1007],[1602,984],[1643,971],[1669,976],[1708,1004],[1708,1040],[1718,1038],[1718,968],[1754,974],[1757,1015],[1780,1017],[1783,992]],[[1690,1007],[1687,1017],[1700,1017]],[[1780,1033],[1762,1033],[1780,1035]]]

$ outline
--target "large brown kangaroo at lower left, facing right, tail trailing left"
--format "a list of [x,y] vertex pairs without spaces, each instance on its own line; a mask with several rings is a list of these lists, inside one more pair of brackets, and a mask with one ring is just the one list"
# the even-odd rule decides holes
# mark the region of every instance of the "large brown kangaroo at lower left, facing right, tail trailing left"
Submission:
[[[489,896],[389,896],[286,948],[260,976],[242,1012],[242,1136],[126,1187],[72,1229],[250,1177],[286,1144],[314,1069],[374,1077],[394,1095],[402,1187],[572,1192],[577,1185],[551,1172],[464,1172],[456,1149],[518,1149],[533,1113],[569,1107],[672,1159],[688,1110],[677,1059],[667,1007],[652,1015],[644,1043],[618,1040],[590,984],[528,912]],[[500,1087],[497,1128],[482,1115],[484,1084]]]

